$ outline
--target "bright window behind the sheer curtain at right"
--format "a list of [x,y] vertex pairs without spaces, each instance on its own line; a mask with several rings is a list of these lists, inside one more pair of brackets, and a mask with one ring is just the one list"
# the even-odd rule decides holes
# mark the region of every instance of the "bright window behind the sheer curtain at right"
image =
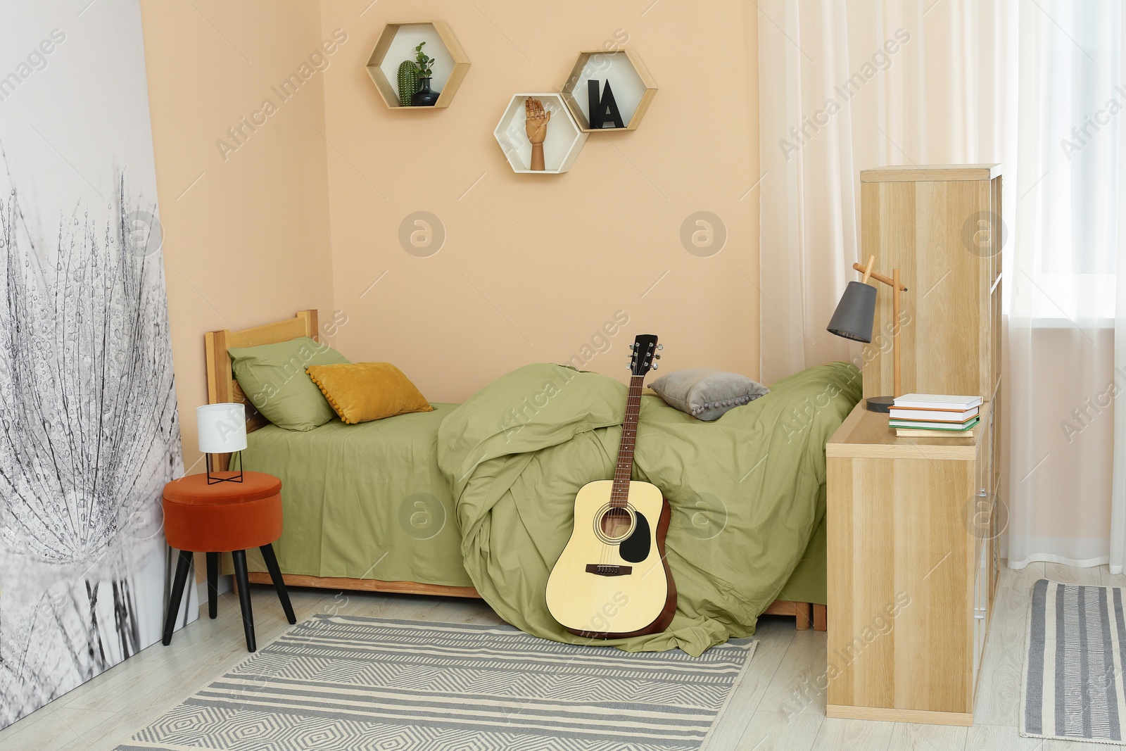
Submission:
[[1121,12],[1116,0],[1019,3],[1017,315],[1114,318]]

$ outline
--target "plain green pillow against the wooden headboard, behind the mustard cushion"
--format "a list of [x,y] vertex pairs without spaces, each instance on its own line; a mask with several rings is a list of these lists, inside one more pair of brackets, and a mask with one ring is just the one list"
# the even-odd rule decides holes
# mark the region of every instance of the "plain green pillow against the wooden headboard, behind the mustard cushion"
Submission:
[[324,394],[305,374],[310,365],[348,360],[309,337],[261,347],[232,347],[231,367],[250,403],[267,420],[287,430],[312,430],[337,417]]

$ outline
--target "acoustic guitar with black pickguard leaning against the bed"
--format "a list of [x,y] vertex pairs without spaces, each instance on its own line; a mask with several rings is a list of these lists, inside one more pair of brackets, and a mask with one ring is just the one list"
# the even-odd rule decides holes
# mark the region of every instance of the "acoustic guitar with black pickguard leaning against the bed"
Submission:
[[547,609],[572,634],[623,638],[653,634],[672,620],[677,585],[664,560],[671,511],[661,491],[629,480],[645,374],[662,349],[637,337],[614,480],[596,480],[574,499],[571,539],[547,579]]

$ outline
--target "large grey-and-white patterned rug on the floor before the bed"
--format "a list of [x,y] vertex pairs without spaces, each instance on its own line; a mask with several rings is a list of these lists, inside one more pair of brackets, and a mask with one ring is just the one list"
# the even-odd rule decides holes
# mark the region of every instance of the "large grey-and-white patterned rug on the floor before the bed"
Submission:
[[320,615],[117,751],[695,751],[754,645],[629,654],[508,626]]

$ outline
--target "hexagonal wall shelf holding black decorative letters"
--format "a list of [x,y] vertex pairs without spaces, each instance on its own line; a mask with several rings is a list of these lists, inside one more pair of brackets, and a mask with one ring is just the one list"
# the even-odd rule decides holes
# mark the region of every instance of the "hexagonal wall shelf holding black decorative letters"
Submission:
[[[599,81],[600,92],[606,81],[610,82],[625,127],[591,129],[587,93],[587,81],[590,80]],[[583,132],[636,131],[650,102],[656,96],[656,82],[633,50],[590,50],[579,53],[579,60],[575,61],[571,75],[562,87],[562,93]]]

